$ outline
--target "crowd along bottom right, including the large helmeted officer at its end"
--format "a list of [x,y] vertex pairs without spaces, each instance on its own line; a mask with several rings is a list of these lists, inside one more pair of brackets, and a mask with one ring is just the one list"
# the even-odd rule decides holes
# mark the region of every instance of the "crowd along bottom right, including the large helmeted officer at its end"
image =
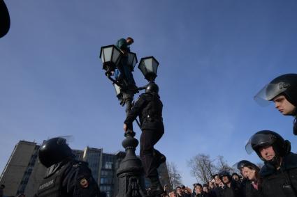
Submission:
[[237,164],[240,175],[219,171],[204,184],[193,184],[193,189],[178,186],[174,191],[164,187],[169,197],[261,197],[297,196],[297,154],[291,152],[291,144],[273,131],[260,131],[252,136],[247,146],[264,161],[259,168],[251,161]]

